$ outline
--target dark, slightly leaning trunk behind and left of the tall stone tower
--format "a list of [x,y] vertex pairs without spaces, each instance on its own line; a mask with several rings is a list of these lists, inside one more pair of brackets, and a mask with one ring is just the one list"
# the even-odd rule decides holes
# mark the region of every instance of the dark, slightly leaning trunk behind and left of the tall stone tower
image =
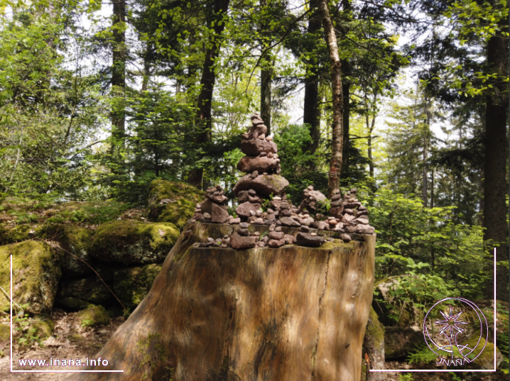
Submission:
[[[209,48],[205,53],[204,67],[202,69],[202,79],[200,85],[202,89],[198,95],[198,111],[196,126],[198,133],[195,136],[195,143],[203,144],[212,141],[212,92],[215,89],[216,72],[215,62],[219,56],[219,47],[221,45],[220,36],[225,28],[223,17],[227,14],[230,0],[215,0],[213,11],[209,17],[207,25],[215,32],[211,33]],[[214,23],[214,26],[212,26]],[[202,168],[195,168],[188,175],[188,183],[202,188]]]

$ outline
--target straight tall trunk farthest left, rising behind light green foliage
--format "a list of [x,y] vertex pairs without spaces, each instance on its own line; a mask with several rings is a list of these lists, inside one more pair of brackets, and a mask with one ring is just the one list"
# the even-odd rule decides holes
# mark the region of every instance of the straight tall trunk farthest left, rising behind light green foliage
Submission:
[[[114,0],[113,5],[112,94],[117,98],[123,98],[126,91],[126,1]],[[115,140],[120,140],[126,133],[126,116],[123,102],[114,103],[111,113],[112,136]]]

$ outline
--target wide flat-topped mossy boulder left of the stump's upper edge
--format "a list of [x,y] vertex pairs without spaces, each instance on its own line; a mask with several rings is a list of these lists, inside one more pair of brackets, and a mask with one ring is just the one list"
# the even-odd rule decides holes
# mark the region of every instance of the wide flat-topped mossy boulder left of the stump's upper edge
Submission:
[[96,229],[91,253],[105,263],[160,263],[179,236],[173,223],[112,221]]

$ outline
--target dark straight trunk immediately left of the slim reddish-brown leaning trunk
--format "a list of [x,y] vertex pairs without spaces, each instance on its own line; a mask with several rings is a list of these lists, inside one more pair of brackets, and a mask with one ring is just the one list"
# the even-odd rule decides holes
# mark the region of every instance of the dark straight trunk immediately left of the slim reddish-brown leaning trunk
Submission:
[[[318,0],[310,0],[310,18],[308,18],[308,33],[315,35],[320,31],[321,21],[318,11]],[[314,47],[308,48],[308,53]],[[303,148],[303,151],[315,153],[319,147],[320,140],[320,109],[319,109],[319,74],[316,56],[313,55],[311,62],[308,62],[305,77],[305,104],[303,108],[303,123],[310,125],[310,137],[312,140]]]

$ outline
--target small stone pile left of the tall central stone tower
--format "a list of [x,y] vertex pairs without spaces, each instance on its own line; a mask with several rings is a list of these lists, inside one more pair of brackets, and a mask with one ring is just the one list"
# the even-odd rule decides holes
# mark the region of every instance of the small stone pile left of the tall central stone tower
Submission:
[[227,202],[228,197],[224,195],[221,185],[209,187],[205,191],[205,200],[197,204],[192,222],[200,221],[205,223],[239,223],[239,219],[229,215]]

